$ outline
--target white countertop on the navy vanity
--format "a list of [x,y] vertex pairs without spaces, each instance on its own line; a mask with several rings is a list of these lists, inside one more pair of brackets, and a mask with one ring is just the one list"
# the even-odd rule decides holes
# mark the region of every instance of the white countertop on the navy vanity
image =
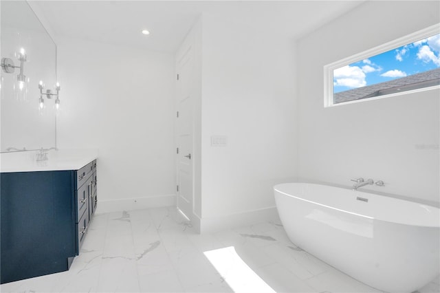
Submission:
[[58,149],[47,151],[47,160],[37,161],[40,151],[0,153],[0,171],[33,172],[78,170],[98,158],[97,149]]

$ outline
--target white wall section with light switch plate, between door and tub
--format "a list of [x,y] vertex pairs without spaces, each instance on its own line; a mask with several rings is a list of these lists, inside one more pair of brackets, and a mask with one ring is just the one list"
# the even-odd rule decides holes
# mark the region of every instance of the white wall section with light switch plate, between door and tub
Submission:
[[[296,101],[291,41],[212,14],[203,14],[202,31],[201,217],[208,230],[273,208],[272,186],[296,176]],[[212,135],[225,135],[227,146],[211,146]]]

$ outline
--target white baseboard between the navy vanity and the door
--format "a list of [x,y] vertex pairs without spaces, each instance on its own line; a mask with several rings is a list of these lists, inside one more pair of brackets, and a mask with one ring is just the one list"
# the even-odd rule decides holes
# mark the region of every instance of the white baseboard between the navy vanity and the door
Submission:
[[151,197],[133,197],[124,199],[98,199],[97,214],[119,212],[122,210],[141,210],[144,208],[160,208],[175,206],[176,195],[155,195]]

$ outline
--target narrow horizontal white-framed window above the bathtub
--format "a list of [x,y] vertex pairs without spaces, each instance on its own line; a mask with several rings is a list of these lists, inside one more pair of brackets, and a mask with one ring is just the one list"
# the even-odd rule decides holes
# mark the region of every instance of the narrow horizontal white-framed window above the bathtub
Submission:
[[324,67],[325,107],[440,87],[440,25]]

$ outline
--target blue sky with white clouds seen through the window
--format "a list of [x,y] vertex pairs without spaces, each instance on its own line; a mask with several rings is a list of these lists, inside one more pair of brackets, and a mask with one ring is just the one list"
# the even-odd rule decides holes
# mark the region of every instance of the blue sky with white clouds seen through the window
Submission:
[[440,34],[333,70],[333,93],[440,67]]

